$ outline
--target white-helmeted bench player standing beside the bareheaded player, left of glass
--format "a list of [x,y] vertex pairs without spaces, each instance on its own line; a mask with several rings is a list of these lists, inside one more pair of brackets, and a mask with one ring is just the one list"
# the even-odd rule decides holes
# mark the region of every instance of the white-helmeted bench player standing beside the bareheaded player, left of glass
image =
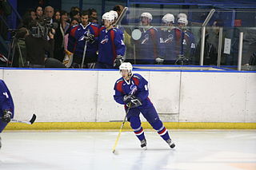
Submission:
[[97,69],[118,68],[124,60],[126,45],[123,42],[123,33],[113,26],[114,14],[103,14],[104,26],[98,38],[98,62]]

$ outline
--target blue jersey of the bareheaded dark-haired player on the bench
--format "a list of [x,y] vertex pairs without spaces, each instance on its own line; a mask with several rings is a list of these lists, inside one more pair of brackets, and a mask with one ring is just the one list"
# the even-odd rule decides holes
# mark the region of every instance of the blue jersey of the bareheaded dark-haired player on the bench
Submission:
[[74,53],[74,56],[83,57],[83,51],[85,48],[86,41],[84,40],[84,35],[94,34],[95,42],[87,42],[86,47],[86,57],[94,57],[98,51],[98,25],[90,23],[87,26],[74,26],[70,30],[68,50]]

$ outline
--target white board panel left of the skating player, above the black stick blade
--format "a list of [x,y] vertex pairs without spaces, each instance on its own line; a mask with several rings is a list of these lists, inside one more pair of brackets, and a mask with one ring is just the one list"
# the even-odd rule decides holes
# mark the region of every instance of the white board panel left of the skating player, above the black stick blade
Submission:
[[38,122],[95,121],[96,71],[6,69],[15,118]]

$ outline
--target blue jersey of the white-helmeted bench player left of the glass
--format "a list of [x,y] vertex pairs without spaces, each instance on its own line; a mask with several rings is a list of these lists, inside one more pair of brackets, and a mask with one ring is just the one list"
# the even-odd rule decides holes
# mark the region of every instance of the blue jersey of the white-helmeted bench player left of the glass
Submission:
[[123,33],[117,28],[106,30],[103,28],[98,38],[98,62],[114,65],[114,59],[124,56],[126,45],[123,42]]

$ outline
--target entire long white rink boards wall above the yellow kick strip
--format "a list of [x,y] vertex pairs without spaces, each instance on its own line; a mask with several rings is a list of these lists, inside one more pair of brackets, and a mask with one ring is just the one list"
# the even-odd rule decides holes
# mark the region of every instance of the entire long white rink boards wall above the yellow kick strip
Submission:
[[[164,121],[256,122],[256,73],[136,71]],[[114,101],[118,71],[0,69],[14,98],[15,118],[38,122],[122,121]],[[142,121],[145,119],[142,118]]]

